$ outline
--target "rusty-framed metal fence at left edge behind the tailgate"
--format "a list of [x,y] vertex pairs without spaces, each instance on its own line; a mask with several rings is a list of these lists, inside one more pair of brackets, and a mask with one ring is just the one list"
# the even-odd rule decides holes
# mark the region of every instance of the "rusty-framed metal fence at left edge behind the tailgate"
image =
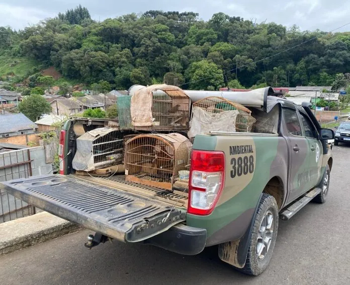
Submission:
[[[32,176],[30,149],[0,153],[0,182]],[[0,223],[35,214],[35,207],[0,188]]]

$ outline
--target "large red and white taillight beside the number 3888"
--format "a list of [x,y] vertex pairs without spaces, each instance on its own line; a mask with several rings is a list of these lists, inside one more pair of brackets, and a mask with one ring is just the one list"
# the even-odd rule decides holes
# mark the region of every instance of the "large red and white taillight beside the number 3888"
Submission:
[[225,154],[193,150],[189,180],[188,213],[209,215],[218,202],[225,181]]

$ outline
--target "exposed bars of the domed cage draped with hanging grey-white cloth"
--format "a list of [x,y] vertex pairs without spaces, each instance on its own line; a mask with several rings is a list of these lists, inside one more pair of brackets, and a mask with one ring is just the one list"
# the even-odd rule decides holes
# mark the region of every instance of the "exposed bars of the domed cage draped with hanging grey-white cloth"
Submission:
[[192,105],[192,108],[196,107],[212,114],[237,110],[238,114],[235,120],[236,132],[251,132],[252,126],[256,121],[251,116],[251,111],[248,108],[222,97],[212,96],[204,98]]

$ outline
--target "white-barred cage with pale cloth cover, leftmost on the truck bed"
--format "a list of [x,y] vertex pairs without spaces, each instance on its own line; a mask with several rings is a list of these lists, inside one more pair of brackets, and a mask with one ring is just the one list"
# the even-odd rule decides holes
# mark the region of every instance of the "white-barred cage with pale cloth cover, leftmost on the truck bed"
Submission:
[[92,171],[123,161],[124,139],[116,128],[97,128],[76,139],[73,169]]

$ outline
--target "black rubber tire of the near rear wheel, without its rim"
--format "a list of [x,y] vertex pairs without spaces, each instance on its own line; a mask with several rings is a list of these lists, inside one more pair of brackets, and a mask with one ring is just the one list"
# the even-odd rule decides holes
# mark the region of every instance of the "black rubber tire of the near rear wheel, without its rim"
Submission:
[[[273,220],[269,221],[271,217]],[[276,244],[278,219],[279,214],[275,198],[269,194],[263,193],[255,215],[247,259],[243,268],[237,268],[239,271],[248,275],[257,276],[268,267]],[[270,225],[270,231],[268,227],[265,227],[265,231],[262,229],[266,223]],[[265,246],[266,249],[267,242],[265,240],[264,243],[262,237],[270,238],[267,252],[263,250],[263,246]]]

